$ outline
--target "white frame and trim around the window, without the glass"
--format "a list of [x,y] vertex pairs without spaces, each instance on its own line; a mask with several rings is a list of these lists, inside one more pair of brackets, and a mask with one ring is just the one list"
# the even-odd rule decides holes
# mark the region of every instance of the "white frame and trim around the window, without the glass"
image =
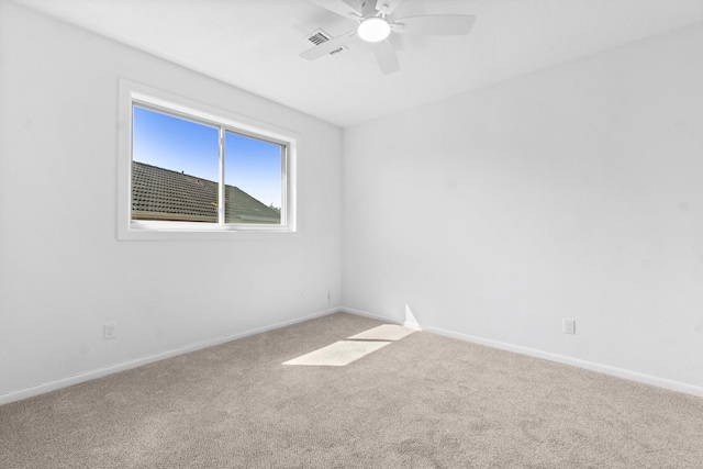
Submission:
[[[286,147],[282,163],[281,223],[225,224],[132,220],[132,131],[133,105],[165,112],[177,118],[202,121],[227,131],[249,135]],[[295,161],[298,134],[257,122],[232,112],[147,87],[120,80],[118,141],[118,239],[212,239],[293,235],[297,230]],[[220,174],[224,170],[220,160]],[[220,188],[222,192],[224,187]],[[222,197],[222,194],[221,194]],[[219,210],[224,210],[220,203]]]

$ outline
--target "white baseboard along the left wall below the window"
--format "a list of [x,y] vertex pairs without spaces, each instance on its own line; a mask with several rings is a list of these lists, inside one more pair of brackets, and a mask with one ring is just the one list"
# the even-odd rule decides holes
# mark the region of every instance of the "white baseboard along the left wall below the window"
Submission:
[[49,382],[43,382],[40,384],[35,384],[25,389],[20,389],[18,391],[10,391],[4,394],[0,394],[0,405],[9,404],[10,402],[21,401],[23,399],[32,398],[38,394],[44,394],[46,392],[55,391],[57,389],[67,388],[69,386],[78,384],[81,382],[90,381],[92,379],[102,378],[108,375],[116,373],[120,371],[130,370],[133,368],[138,368],[144,365],[153,364],[155,361],[164,360],[166,358],[176,357],[178,355],[188,354],[191,351],[200,350],[202,348],[213,347],[215,345],[225,344],[227,342],[236,340],[237,338],[247,337],[249,335],[260,334],[263,332],[272,331],[280,327],[286,327],[292,324],[302,323],[304,321],[310,321],[315,317],[326,316],[327,314],[336,313],[339,309],[334,308],[326,311],[320,311],[317,313],[309,314],[302,317],[297,317],[294,320],[283,321],[280,323],[271,324],[264,327],[258,327],[255,330],[231,334],[222,337],[215,337],[208,340],[197,342],[194,344],[187,345],[185,347],[174,348],[170,350],[163,351],[160,354],[150,355],[148,357],[137,358],[135,360],[125,361],[122,364],[112,365],[109,367],[100,368],[92,371],[86,371],[82,373],[69,376],[66,378],[57,379]]

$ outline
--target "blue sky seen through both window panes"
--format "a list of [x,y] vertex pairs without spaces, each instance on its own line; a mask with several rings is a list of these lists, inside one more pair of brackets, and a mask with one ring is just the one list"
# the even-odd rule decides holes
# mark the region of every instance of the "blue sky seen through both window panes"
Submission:
[[[135,161],[219,180],[216,127],[135,105],[132,152]],[[226,132],[225,183],[281,206],[281,146]]]

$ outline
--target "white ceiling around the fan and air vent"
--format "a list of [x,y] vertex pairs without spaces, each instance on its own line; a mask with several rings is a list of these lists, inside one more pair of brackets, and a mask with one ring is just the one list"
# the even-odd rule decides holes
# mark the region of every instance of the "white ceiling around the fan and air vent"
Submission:
[[300,58],[314,30],[355,27],[306,0],[13,1],[345,127],[703,21],[703,0],[404,0],[395,18],[477,21],[393,35],[401,70],[382,75],[360,41]]

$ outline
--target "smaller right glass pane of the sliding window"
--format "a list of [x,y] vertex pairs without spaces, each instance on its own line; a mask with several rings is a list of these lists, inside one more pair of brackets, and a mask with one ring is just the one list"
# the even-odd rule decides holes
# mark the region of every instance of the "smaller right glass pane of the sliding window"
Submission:
[[225,133],[225,223],[280,224],[283,145]]

